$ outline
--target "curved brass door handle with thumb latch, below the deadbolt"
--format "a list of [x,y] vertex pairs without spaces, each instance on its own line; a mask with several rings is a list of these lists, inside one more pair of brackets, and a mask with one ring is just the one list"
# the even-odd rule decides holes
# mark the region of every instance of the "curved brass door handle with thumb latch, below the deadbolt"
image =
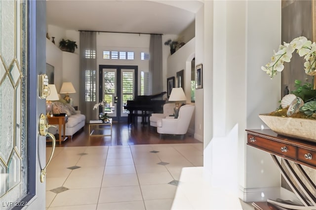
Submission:
[[48,162],[46,163],[45,167],[40,170],[40,182],[44,182],[44,180],[45,180],[46,168],[47,168],[48,164],[50,163],[51,159],[53,158],[53,154],[54,154],[55,146],[56,146],[55,136],[51,133],[48,133],[48,128],[50,128],[50,127],[56,128],[56,126],[48,125],[48,119],[47,119],[46,115],[41,113],[40,114],[40,125],[39,125],[40,136],[49,137],[52,140],[52,150],[51,150],[51,154],[50,154],[50,157],[48,159]]

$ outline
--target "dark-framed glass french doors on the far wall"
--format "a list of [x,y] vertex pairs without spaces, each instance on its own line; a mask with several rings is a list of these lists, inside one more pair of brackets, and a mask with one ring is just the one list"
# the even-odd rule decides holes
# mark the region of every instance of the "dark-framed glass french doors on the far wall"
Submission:
[[137,66],[100,65],[99,99],[106,101],[100,112],[108,113],[113,121],[126,122],[128,110],[124,105],[137,96],[137,75]]

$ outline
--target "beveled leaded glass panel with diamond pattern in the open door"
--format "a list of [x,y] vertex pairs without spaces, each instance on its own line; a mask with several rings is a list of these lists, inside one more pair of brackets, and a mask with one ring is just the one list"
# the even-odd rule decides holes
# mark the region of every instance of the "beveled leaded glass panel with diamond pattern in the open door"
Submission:
[[0,1],[0,33],[0,204],[6,209],[28,193],[25,0]]

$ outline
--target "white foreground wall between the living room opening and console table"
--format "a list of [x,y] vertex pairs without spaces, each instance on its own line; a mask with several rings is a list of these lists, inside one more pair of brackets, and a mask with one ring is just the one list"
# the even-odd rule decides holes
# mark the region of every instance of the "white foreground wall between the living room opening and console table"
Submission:
[[265,200],[279,174],[269,154],[246,145],[245,129],[260,128],[258,115],[280,100],[279,78],[261,70],[280,43],[280,1],[205,1],[203,11],[205,176],[244,201]]

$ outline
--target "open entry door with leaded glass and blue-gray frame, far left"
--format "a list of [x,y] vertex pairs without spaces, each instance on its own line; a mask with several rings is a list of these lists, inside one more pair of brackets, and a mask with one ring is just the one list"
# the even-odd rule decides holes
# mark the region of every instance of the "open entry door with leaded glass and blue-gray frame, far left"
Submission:
[[0,209],[45,209],[45,1],[0,0]]

